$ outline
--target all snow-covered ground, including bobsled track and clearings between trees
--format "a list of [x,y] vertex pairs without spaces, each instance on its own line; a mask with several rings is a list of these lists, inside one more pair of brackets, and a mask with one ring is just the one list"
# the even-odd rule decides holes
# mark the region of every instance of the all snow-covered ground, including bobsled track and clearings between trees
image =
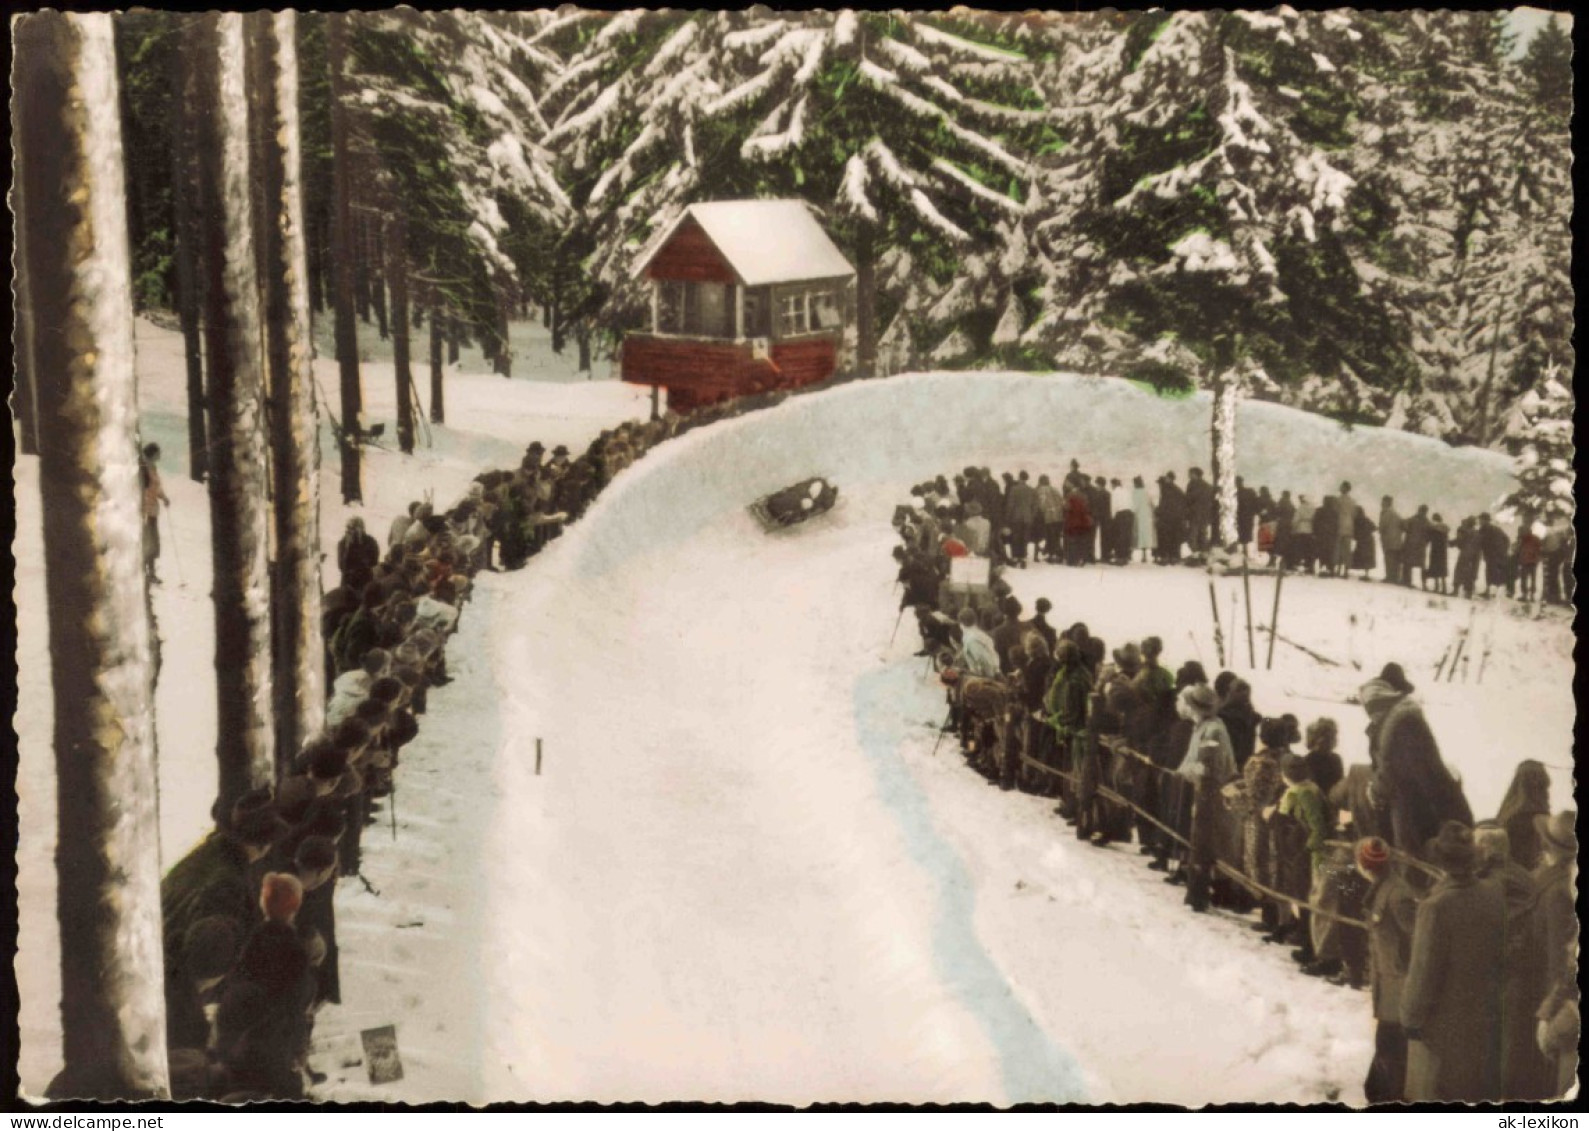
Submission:
[[[162,845],[175,861],[208,824],[208,513],[181,470],[180,340],[140,327],[149,430],[167,451],[176,551],[157,615]],[[318,364],[332,388],[327,362]],[[369,367],[389,419],[389,367]],[[380,397],[386,399],[381,400]],[[412,459],[372,456],[372,532],[426,488],[450,502],[528,438],[583,445],[644,416],[617,383],[451,378],[453,424]],[[1465,513],[1505,462],[1409,437],[1244,407],[1252,483],[1395,489]],[[385,415],[383,415],[385,413]],[[1076,429],[1074,421],[1087,421]],[[1084,467],[1130,475],[1133,453],[1201,462],[1206,407],[1125,383],[1006,375],[896,378],[799,397],[648,454],[586,518],[510,575],[486,575],[405,750],[397,832],[365,834],[365,877],[338,885],[343,1001],[321,1013],[315,1061],[331,1099],[769,1099],[1362,1102],[1367,994],[1303,979],[1284,952],[1193,917],[1135,848],[1076,842],[1052,804],[990,789],[945,742],[942,696],[910,656],[888,550],[893,505],[925,475]],[[388,427],[388,432],[391,429]],[[1063,454],[1054,437],[1063,437]],[[839,507],[764,535],[744,504],[828,473]],[[54,805],[35,461],[17,467],[22,739],[22,1080],[57,1063]],[[32,545],[29,543],[32,538]],[[168,551],[170,554],[170,551]],[[1111,647],[1158,634],[1166,658],[1214,662],[1206,575],[1135,566],[1011,575],[1052,620]],[[327,578],[334,581],[334,578]],[[1479,815],[1517,759],[1572,796],[1572,632],[1565,616],[1476,605],[1483,683],[1435,685],[1470,602],[1359,581],[1290,578],[1281,645],[1251,670],[1239,578],[1219,580],[1228,666],[1260,712],[1341,723],[1346,696],[1387,659],[1419,685]],[[1254,581],[1266,623],[1273,578]],[[1190,634],[1190,639],[1189,639]],[[1258,642],[1258,664],[1263,662]],[[543,772],[534,772],[535,740]],[[407,1067],[365,1083],[358,1033],[396,1023]]]

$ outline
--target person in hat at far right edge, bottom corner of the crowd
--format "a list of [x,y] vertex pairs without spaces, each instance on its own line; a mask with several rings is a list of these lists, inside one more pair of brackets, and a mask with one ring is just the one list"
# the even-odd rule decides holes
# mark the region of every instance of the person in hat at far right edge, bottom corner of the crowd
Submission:
[[1578,888],[1578,836],[1572,810],[1545,816],[1533,824],[1540,832],[1545,864],[1535,872],[1535,940],[1545,947],[1545,1001],[1535,1010],[1535,1039],[1541,1053],[1556,1063],[1556,1096],[1567,1094],[1578,1075],[1578,915],[1573,897]]

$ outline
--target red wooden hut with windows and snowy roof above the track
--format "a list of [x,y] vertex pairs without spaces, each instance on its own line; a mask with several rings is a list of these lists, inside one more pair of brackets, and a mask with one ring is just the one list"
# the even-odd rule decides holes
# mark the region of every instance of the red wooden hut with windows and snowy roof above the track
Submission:
[[651,329],[623,340],[623,380],[674,410],[833,376],[855,268],[801,200],[690,205],[634,268]]

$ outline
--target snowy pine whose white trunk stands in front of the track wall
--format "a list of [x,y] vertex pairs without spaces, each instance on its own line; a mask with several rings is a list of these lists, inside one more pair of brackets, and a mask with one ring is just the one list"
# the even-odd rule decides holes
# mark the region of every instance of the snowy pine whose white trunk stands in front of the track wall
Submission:
[[[1096,132],[1076,146],[1101,167],[1101,192],[1055,218],[1109,265],[1073,288],[1077,310],[1055,329],[1085,340],[1101,326],[1095,337],[1125,348],[1115,364],[1127,372],[1214,391],[1227,542],[1235,461],[1220,421],[1243,375],[1262,372],[1293,399],[1328,391],[1336,411],[1355,413],[1363,386],[1392,383],[1405,357],[1362,294],[1354,178],[1333,156],[1351,138],[1341,62],[1354,37],[1344,13],[1136,16],[1103,79]],[[1149,353],[1166,337],[1174,349]],[[1165,364],[1177,354],[1197,365]]]

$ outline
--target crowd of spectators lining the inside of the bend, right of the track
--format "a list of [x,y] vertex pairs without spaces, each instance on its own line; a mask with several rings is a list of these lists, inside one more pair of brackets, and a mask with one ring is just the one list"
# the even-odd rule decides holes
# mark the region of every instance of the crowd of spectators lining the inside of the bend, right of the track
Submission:
[[[1212,491],[1197,469],[1189,478],[1184,492],[1166,475],[1157,497],[1141,480],[1123,494],[1073,462],[1060,488],[971,467],[953,486],[912,489],[895,511],[901,615],[914,608],[920,654],[945,685],[945,734],[990,783],[1057,801],[1081,840],[1135,840],[1193,912],[1254,915],[1303,974],[1367,990],[1370,1102],[1564,1094],[1578,1063],[1578,843],[1575,813],[1551,813],[1543,764],[1519,762],[1500,810],[1476,821],[1398,664],[1357,694],[1370,759],[1347,767],[1338,720],[1265,715],[1235,672],[1173,666],[1158,637],[1111,650],[1084,623],[1050,623],[1047,599],[1028,616],[1001,577],[1033,548],[1071,564],[1204,553]],[[1282,569],[1373,567],[1376,527],[1349,484],[1317,507],[1239,497],[1243,540],[1257,535]],[[1443,583],[1443,523],[1425,511],[1403,521],[1384,500],[1387,581],[1409,585],[1416,570]],[[1506,545],[1487,516],[1471,529],[1454,585],[1471,591],[1481,562],[1487,585],[1529,594],[1540,556],[1484,550]],[[987,585],[952,580],[968,556],[990,559]],[[1548,570],[1545,586],[1548,600],[1570,599],[1562,575]]]

